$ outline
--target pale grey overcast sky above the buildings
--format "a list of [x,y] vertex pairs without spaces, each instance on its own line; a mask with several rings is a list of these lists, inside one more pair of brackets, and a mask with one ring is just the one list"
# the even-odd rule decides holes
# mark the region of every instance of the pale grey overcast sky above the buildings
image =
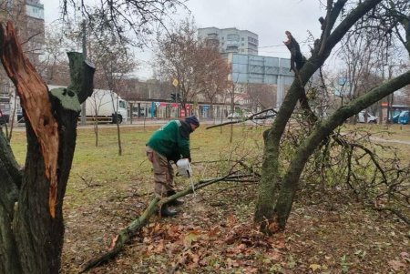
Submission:
[[[56,20],[59,1],[41,2],[44,4],[46,23]],[[236,27],[257,34],[260,56],[290,57],[282,43],[286,40],[285,30],[292,32],[302,52],[308,52],[309,48],[303,43],[309,36],[308,31],[319,38],[318,18],[325,15],[320,0],[190,0],[186,5],[198,27]],[[181,18],[187,15],[187,11],[179,13]],[[140,54],[138,58],[148,61],[149,52]],[[151,70],[147,65],[141,66],[138,75],[147,77]]]

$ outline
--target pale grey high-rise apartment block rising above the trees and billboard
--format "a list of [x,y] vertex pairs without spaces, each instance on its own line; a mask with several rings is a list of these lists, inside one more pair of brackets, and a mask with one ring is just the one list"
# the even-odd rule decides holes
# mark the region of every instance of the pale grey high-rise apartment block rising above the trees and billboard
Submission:
[[217,46],[222,56],[229,53],[258,55],[258,35],[236,27],[204,27],[198,29],[198,37],[208,45]]

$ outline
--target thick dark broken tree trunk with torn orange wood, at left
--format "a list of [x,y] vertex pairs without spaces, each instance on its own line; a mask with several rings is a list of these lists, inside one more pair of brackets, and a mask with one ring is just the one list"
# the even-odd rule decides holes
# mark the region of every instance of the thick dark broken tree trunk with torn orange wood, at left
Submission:
[[77,118],[80,102],[92,93],[94,67],[85,65],[82,54],[68,54],[76,85],[50,93],[23,55],[11,23],[2,25],[0,40],[2,63],[25,108],[27,137],[21,171],[0,134],[0,273],[58,273]]

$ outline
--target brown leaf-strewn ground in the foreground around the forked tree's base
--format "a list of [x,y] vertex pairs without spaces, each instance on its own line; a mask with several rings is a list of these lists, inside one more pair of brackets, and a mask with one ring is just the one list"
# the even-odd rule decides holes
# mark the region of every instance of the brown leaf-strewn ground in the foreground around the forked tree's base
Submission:
[[[252,226],[253,187],[234,185],[186,198],[175,218],[154,217],[128,247],[89,273],[408,273],[409,228],[360,205],[296,203],[287,230]],[[149,202],[131,189],[70,208],[62,273],[108,249]]]

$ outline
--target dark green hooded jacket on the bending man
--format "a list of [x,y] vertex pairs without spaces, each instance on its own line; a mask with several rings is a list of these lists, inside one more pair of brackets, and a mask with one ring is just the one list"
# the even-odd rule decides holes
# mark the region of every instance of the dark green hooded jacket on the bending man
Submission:
[[180,158],[190,158],[191,132],[189,123],[172,120],[152,134],[147,146],[176,163]]

